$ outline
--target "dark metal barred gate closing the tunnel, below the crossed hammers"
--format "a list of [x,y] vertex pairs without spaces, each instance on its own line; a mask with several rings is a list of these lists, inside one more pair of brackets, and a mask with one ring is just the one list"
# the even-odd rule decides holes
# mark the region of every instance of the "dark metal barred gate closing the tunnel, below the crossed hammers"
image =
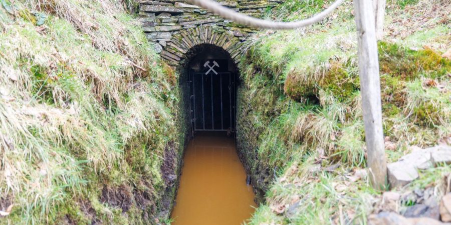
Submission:
[[191,71],[189,76],[193,130],[234,131],[235,75]]

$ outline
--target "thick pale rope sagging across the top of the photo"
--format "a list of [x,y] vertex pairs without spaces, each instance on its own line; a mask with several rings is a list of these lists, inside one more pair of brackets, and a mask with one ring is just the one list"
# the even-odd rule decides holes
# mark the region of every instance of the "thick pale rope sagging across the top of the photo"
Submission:
[[191,4],[198,5],[202,8],[206,8],[226,19],[231,19],[237,23],[248,25],[252,27],[267,28],[267,29],[293,29],[308,26],[321,21],[329,13],[331,13],[335,8],[341,5],[344,0],[336,0],[332,5],[326,8],[324,11],[300,21],[294,22],[274,22],[264,19],[259,19],[245,15],[243,13],[236,12],[232,9],[224,7],[217,2],[212,0],[187,0]]

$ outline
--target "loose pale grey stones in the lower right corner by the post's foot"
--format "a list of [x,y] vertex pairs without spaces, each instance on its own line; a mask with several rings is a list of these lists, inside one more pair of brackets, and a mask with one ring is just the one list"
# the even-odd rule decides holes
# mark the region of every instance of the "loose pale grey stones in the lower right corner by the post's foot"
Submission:
[[[425,149],[412,148],[410,154],[401,157],[394,164],[404,163],[404,166],[411,165],[414,169],[426,169],[451,162],[446,157],[451,150],[447,144]],[[434,161],[434,156],[441,160]],[[429,183],[424,189],[408,187],[385,191],[374,205],[373,214],[368,216],[368,224],[451,224],[451,173],[444,175],[442,180],[444,182]]]

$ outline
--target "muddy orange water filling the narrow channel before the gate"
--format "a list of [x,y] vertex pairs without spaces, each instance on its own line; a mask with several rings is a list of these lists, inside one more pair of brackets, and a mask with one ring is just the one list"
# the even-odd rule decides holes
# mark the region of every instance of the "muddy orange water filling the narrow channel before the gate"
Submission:
[[200,134],[185,151],[172,224],[238,225],[250,218],[254,192],[234,139]]

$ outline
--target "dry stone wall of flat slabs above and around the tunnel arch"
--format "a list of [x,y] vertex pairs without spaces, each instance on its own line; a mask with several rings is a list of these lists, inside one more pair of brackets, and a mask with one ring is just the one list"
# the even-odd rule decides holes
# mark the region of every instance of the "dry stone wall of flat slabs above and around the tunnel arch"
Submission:
[[[254,17],[283,0],[218,0],[229,7]],[[185,60],[188,50],[199,44],[214,44],[228,51],[239,61],[246,36],[255,29],[223,19],[185,1],[139,0],[139,15],[147,38],[169,64],[177,66]]]

